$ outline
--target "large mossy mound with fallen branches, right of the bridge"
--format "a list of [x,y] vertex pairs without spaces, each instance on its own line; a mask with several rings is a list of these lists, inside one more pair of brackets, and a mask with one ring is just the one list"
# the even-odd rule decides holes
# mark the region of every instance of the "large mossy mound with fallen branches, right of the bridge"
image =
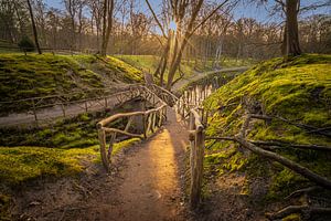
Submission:
[[[247,110],[280,116],[296,124],[316,128],[331,126],[331,55],[303,54],[263,62],[237,76],[205,102],[211,110],[207,136],[234,136],[239,133]],[[284,140],[295,144],[330,146],[327,136],[309,133],[281,120],[254,120],[248,131],[252,140]],[[269,177],[268,199],[278,199],[293,189],[311,183],[301,176],[244,150],[233,152],[232,141],[206,143],[206,169],[217,172],[244,170],[250,176]],[[276,150],[319,175],[331,178],[331,156],[318,150],[290,147]],[[271,165],[270,165],[271,164]],[[215,167],[215,165],[217,165]]]

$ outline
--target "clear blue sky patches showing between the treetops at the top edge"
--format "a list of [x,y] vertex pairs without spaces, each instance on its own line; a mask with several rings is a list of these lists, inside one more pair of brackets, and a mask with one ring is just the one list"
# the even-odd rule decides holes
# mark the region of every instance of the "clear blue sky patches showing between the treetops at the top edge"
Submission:
[[[64,8],[63,0],[44,0],[44,1],[49,7],[54,7],[57,9]],[[157,9],[161,1],[162,0],[150,0],[150,3],[153,6],[153,8]],[[220,2],[222,2],[222,1],[220,0]],[[241,3],[234,10],[234,19],[237,20],[239,18],[245,17],[245,18],[254,18],[260,22],[270,22],[270,21],[279,20],[279,18],[277,18],[277,17],[270,18],[269,12],[267,11],[267,8],[274,4],[274,0],[269,0],[269,3],[267,3],[265,6],[260,6],[260,7],[257,7],[257,4],[249,3],[249,2],[252,2],[252,0],[241,1]],[[317,2],[317,0],[301,0],[301,6],[308,6],[313,2]],[[145,0],[139,0],[139,6],[140,6],[142,12],[148,11]],[[303,15],[305,17],[312,15],[316,13],[331,14],[331,8],[324,8],[324,9],[320,9],[320,10],[316,10],[316,11],[310,11],[309,13],[306,13]]]

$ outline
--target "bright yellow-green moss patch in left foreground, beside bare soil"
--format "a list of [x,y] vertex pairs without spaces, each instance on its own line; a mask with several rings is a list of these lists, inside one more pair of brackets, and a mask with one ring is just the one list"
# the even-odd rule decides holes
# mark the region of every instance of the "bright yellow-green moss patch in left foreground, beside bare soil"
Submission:
[[54,149],[43,147],[0,147],[0,181],[19,185],[39,177],[70,176],[82,171],[81,161],[96,156],[95,147]]

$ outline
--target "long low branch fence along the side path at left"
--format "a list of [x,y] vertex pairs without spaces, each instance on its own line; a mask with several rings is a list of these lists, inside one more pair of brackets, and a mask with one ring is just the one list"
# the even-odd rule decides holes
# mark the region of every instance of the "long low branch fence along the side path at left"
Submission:
[[[9,116],[0,117],[0,126],[19,126],[49,124],[54,119],[73,117],[82,113],[90,113],[115,107],[140,95],[139,88],[142,84],[131,84],[117,87],[116,90],[94,90],[95,95],[87,97],[82,93],[58,94],[43,97],[31,97],[20,101],[0,102],[0,109],[13,110],[12,120],[2,119]],[[114,92],[116,91],[116,92]],[[89,92],[89,94],[93,94]],[[81,96],[73,101],[73,97]],[[24,107],[23,110],[14,110],[17,106]],[[52,114],[49,114],[52,113]],[[20,118],[22,116],[22,119]]]

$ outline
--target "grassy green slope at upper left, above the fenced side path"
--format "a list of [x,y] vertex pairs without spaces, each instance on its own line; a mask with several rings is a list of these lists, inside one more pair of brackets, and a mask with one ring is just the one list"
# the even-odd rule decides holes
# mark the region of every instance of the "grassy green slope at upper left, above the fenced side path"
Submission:
[[[2,102],[49,95],[72,95],[68,99],[73,101],[96,96],[98,93],[94,90],[104,90],[109,82],[141,80],[139,70],[110,56],[104,60],[94,55],[0,54]],[[0,112],[30,108],[30,103],[1,105]]]

